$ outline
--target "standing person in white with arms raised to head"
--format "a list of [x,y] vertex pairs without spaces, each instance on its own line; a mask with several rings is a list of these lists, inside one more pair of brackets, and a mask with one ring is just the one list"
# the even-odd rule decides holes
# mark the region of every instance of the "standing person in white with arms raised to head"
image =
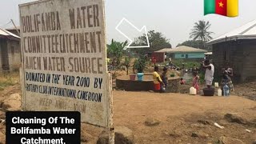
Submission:
[[202,62],[202,67],[206,68],[205,81],[207,88],[210,89],[214,80],[214,65],[211,64],[208,59],[206,59],[204,62]]

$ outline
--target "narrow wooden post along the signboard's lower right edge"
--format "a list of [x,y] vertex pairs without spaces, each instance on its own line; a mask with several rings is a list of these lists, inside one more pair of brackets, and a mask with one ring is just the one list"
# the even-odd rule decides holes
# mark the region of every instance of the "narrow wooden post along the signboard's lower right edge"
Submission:
[[114,124],[113,124],[113,94],[112,94],[112,75],[108,73],[108,94],[109,94],[109,143],[114,144]]

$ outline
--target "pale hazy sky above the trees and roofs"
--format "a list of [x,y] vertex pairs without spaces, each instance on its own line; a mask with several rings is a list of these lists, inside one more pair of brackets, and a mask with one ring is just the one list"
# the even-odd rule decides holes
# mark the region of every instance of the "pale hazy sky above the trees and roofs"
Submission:
[[[0,27],[13,27],[10,19],[19,26],[18,4],[34,0],[1,0]],[[205,20],[211,23],[213,38],[225,34],[256,19],[256,1],[239,0],[237,18],[227,18],[217,14],[203,15],[203,0],[106,0],[106,38],[110,42],[125,41],[126,38],[115,30],[118,22],[126,18],[138,29],[146,26],[165,35],[174,47],[190,39],[194,22]]]

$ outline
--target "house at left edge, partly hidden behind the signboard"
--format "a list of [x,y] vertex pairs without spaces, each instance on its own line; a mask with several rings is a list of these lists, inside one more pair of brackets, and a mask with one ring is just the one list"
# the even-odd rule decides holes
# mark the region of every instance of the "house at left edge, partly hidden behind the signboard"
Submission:
[[0,73],[18,69],[20,64],[20,37],[0,28]]

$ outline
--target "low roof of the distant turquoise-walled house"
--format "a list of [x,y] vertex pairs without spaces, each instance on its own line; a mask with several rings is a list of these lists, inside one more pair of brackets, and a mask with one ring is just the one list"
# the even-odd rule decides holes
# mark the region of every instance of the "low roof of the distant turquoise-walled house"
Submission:
[[157,53],[197,53],[197,52],[202,52],[206,53],[207,50],[202,50],[202,49],[196,49],[194,47],[189,47],[189,46],[178,46],[174,49],[162,49],[155,51]]

